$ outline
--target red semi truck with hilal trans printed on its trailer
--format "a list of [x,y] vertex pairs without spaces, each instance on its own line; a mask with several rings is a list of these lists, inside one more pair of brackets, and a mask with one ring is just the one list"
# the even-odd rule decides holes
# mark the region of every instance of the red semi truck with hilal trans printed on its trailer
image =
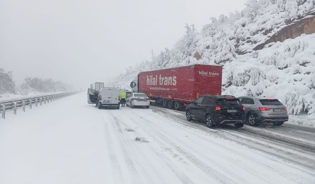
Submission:
[[132,92],[145,93],[152,103],[183,109],[200,95],[221,95],[222,67],[190,65],[141,72],[130,83]]

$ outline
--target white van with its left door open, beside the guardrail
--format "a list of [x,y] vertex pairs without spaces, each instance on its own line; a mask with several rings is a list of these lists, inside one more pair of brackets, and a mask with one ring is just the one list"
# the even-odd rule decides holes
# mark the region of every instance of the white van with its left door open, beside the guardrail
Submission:
[[88,103],[96,104],[96,106],[98,106],[99,109],[102,108],[102,106],[112,106],[119,109],[120,107],[119,95],[122,91],[126,92],[126,90],[110,87],[102,88],[99,91],[89,88]]

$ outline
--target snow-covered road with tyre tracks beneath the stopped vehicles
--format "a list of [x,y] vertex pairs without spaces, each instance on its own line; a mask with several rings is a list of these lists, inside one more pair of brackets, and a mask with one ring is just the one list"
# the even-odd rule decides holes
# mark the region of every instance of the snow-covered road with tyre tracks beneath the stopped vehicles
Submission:
[[314,184],[315,131],[208,129],[86,93],[0,120],[0,184]]

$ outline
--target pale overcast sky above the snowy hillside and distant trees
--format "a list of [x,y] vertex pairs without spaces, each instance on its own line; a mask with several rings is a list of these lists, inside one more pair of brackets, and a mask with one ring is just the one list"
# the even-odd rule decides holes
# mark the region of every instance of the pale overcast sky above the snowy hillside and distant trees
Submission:
[[0,0],[0,68],[87,88],[247,0]]

